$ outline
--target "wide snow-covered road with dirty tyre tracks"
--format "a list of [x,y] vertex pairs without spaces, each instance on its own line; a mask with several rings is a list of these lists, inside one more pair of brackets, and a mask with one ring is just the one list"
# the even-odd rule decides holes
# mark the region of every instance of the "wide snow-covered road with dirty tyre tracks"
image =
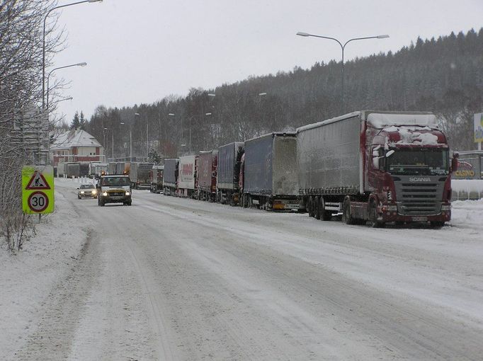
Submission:
[[18,359],[482,359],[482,202],[441,230],[371,229],[72,187],[88,240]]

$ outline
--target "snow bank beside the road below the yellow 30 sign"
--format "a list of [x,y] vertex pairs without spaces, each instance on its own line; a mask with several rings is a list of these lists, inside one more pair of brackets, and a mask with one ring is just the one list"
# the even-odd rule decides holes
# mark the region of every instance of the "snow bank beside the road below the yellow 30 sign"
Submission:
[[[57,186],[58,182],[55,182]],[[68,185],[73,190],[77,187]],[[75,193],[72,193],[75,197]],[[35,217],[33,218],[35,219]],[[42,302],[69,272],[88,236],[69,201],[55,193],[55,213],[42,216],[36,234],[12,256],[0,249],[0,359],[21,348],[25,329],[35,324]],[[36,221],[35,221],[36,222]]]

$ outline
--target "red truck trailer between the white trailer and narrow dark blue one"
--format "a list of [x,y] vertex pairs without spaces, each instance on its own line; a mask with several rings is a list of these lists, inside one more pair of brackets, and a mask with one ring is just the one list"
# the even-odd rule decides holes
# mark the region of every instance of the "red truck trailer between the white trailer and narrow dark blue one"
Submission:
[[216,177],[217,177],[218,151],[200,151],[198,159],[198,200],[216,200]]

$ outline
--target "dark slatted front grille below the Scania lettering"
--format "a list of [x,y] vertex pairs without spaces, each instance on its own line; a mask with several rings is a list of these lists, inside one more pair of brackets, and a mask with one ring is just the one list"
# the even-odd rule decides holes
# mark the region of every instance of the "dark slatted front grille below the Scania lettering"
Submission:
[[407,176],[394,177],[397,212],[404,215],[433,215],[441,213],[444,182],[438,177],[431,182],[409,182]]

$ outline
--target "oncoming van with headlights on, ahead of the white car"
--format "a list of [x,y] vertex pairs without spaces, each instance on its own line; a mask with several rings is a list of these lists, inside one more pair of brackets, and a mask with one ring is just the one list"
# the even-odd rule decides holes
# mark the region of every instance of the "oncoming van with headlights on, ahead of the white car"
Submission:
[[101,176],[97,187],[97,204],[101,207],[106,203],[132,203],[129,176]]

